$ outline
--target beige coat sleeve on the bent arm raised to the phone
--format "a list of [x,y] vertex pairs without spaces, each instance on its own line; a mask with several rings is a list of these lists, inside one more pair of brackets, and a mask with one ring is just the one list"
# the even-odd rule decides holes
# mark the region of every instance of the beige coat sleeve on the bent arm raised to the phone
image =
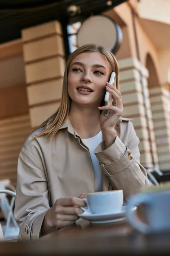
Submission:
[[107,175],[114,189],[122,189],[124,199],[139,192],[144,186],[150,186],[147,173],[140,164],[139,138],[130,123],[130,137],[125,146],[116,136],[115,142],[102,151],[103,146],[98,145],[94,154],[99,160],[102,172]]

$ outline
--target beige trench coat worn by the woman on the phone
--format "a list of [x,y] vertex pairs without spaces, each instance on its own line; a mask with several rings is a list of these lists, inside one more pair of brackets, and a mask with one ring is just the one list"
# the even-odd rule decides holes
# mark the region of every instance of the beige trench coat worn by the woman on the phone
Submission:
[[[58,198],[94,192],[94,172],[88,148],[69,119],[49,143],[35,134],[28,136],[20,152],[14,216],[20,239],[37,239],[45,212]],[[129,119],[116,124],[116,140],[109,148],[104,141],[94,153],[102,168],[102,191],[123,189],[124,199],[149,185],[139,163],[139,138]]]

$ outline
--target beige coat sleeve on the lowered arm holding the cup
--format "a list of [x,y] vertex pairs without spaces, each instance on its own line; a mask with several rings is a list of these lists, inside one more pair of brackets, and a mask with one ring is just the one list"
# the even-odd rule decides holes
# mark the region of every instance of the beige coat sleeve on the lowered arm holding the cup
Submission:
[[[49,207],[48,182],[40,153],[25,143],[17,166],[14,217],[20,228],[18,239],[37,239]],[[30,143],[31,144],[31,143]]]

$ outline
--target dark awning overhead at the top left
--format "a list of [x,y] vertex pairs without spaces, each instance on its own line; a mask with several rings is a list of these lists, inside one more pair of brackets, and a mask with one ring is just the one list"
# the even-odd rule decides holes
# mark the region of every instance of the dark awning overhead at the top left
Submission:
[[[75,23],[91,14],[105,12],[126,0],[0,0],[0,44],[21,37],[21,29],[59,20]],[[107,5],[112,2],[112,5]],[[70,17],[67,8],[79,6],[81,14]]]

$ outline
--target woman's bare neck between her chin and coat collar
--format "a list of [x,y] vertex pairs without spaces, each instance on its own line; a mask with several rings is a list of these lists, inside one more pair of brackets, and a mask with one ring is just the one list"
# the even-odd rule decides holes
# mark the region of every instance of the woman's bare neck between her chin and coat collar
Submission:
[[75,102],[71,103],[69,119],[71,125],[82,139],[94,137],[101,130],[100,111],[92,106],[80,106]]

